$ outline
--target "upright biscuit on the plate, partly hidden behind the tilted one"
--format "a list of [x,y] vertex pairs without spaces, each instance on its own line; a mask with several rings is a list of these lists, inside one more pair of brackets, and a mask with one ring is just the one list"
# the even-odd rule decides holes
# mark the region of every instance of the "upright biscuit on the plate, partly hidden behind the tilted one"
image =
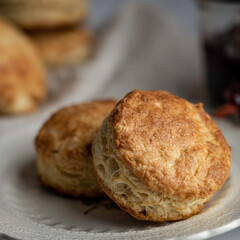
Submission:
[[93,101],[55,113],[35,140],[40,180],[57,192],[79,197],[105,195],[92,169],[91,144],[115,100]]

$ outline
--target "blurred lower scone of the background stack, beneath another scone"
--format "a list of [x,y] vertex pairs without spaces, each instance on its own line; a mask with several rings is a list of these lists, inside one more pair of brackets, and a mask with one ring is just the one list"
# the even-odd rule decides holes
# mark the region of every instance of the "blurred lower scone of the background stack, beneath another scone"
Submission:
[[93,34],[86,29],[41,31],[30,36],[49,67],[83,62],[93,48]]

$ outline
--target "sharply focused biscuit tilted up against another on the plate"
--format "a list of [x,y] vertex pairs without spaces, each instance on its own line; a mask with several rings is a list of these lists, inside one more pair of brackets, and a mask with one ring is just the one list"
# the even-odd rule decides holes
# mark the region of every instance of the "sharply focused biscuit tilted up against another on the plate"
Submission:
[[93,142],[97,179],[140,220],[197,214],[229,175],[231,149],[202,104],[165,91],[133,91],[104,120]]

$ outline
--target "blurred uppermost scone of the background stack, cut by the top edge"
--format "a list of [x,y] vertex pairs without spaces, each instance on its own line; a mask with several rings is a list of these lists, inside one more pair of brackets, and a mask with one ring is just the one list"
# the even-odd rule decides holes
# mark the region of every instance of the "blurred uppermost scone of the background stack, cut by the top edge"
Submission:
[[0,15],[25,29],[50,29],[84,20],[87,5],[87,0],[0,0]]

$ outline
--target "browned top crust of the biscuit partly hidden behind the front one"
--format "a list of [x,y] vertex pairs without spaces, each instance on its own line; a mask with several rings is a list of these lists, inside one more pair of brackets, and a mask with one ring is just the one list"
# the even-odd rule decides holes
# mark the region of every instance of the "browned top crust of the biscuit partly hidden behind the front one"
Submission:
[[[52,152],[63,151],[61,156],[66,156],[67,165],[74,165],[77,169],[81,161],[92,156],[92,140],[116,103],[116,100],[94,100],[58,110],[44,123],[36,136],[37,152],[47,159]],[[71,147],[74,143],[77,148]],[[71,160],[76,158],[77,160]],[[61,163],[59,168],[62,169]]]

